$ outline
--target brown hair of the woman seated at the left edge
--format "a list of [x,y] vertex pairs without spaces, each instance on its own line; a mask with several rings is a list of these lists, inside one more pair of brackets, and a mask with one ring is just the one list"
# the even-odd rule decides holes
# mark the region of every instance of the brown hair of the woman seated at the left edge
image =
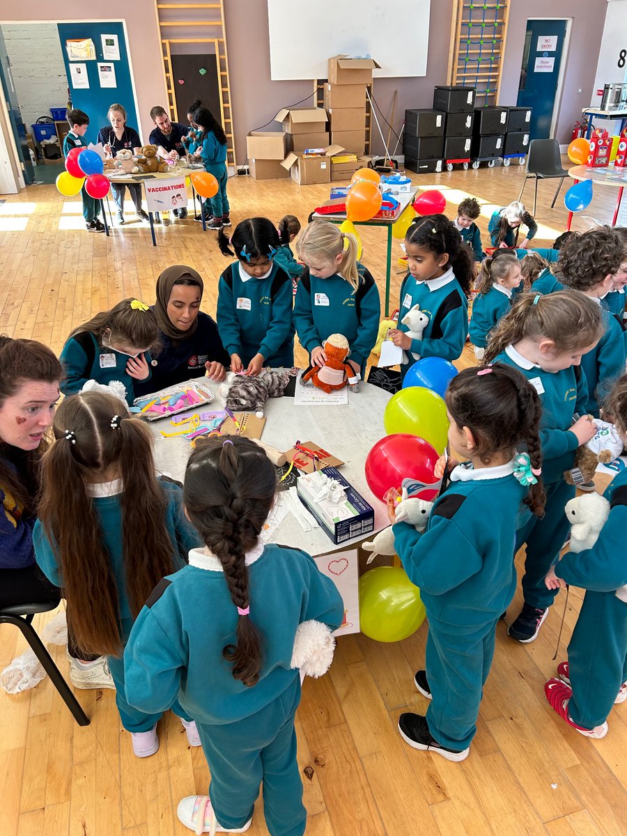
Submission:
[[[58,383],[64,376],[59,359],[48,346],[34,339],[11,339],[0,334],[0,406],[5,400],[16,395],[28,381],[41,380],[43,383]],[[24,455],[28,476],[33,483],[38,482],[38,465],[48,441],[43,438],[36,450]],[[8,464],[3,453],[6,445],[0,439],[0,487],[12,494],[27,515],[34,510],[32,492],[23,485],[21,478]]]

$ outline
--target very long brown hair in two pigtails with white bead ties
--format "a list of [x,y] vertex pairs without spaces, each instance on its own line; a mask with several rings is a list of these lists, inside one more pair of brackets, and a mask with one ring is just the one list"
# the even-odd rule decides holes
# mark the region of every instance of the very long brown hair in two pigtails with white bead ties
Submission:
[[120,400],[102,392],[66,398],[54,416],[53,430],[56,441],[42,461],[39,518],[48,539],[57,544],[79,647],[118,655],[120,593],[86,481],[117,471],[124,484],[120,537],[126,591],[136,616],[155,585],[175,568],[166,494],[155,477],[150,430],[131,418]]

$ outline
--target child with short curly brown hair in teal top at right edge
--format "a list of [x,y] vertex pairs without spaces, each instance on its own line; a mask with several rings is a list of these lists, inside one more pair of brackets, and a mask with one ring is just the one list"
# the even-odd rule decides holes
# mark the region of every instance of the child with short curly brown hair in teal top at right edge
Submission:
[[604,399],[611,385],[624,374],[627,359],[623,321],[610,314],[602,303],[614,287],[614,273],[619,271],[623,257],[623,243],[609,227],[596,227],[572,235],[559,257],[559,277],[564,285],[594,299],[601,308],[604,334],[595,348],[581,359],[588,385],[585,411],[595,418],[599,418],[599,400]]

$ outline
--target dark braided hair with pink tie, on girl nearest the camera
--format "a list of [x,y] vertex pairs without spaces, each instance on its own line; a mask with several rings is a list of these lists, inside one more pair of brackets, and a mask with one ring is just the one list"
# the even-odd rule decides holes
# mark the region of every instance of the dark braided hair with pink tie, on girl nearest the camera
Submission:
[[228,591],[239,609],[251,614],[237,619],[237,643],[224,658],[234,679],[253,686],[262,664],[262,640],[254,621],[245,556],[257,545],[274,494],[277,477],[268,456],[247,438],[208,438],[192,452],[185,473],[183,501],[192,525],[222,563]]

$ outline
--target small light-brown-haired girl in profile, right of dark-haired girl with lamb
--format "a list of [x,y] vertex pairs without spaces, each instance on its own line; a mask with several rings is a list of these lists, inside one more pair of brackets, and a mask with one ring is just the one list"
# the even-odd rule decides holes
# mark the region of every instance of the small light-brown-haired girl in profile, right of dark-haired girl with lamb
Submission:
[[472,303],[468,329],[477,359],[482,359],[490,332],[509,310],[514,288],[521,281],[520,262],[513,254],[506,252],[498,258],[487,257],[483,261],[479,293]]

